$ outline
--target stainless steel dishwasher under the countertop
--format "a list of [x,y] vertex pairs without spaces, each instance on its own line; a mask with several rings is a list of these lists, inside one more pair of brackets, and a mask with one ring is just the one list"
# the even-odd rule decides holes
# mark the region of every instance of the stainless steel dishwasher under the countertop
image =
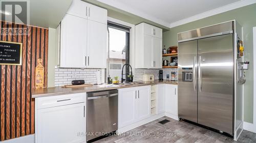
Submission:
[[87,93],[86,140],[117,130],[118,90]]

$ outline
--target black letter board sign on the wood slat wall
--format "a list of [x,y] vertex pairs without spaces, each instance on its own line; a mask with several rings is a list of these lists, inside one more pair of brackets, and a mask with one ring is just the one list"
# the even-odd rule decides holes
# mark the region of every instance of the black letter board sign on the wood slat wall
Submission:
[[22,65],[22,43],[0,41],[0,65]]

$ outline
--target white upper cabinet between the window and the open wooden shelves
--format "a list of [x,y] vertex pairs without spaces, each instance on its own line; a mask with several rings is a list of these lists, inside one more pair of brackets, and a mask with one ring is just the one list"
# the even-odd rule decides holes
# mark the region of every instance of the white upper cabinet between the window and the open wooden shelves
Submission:
[[135,26],[135,68],[162,68],[162,29],[140,23]]

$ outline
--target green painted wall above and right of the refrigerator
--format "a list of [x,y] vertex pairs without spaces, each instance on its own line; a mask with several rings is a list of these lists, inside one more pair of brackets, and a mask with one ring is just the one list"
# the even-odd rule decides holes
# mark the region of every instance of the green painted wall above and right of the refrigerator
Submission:
[[256,4],[231,10],[225,13],[210,16],[194,22],[170,28],[163,33],[163,45],[166,47],[177,45],[177,33],[193,30],[195,28],[217,24],[236,19],[243,26],[244,60],[250,61],[250,69],[246,71],[244,84],[244,121],[253,122],[253,39],[252,27],[256,26]]

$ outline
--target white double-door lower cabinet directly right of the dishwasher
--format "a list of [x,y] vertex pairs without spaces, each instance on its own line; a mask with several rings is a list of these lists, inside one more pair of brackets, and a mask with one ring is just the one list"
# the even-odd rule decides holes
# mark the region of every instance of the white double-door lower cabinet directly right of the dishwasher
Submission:
[[118,128],[151,116],[151,87],[118,90]]

